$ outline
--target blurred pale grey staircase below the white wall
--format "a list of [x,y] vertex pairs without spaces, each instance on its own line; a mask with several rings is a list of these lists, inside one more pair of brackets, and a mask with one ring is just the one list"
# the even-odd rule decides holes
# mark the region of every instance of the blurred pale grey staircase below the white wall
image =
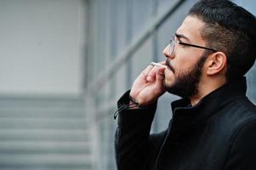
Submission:
[[91,170],[79,97],[0,97],[1,170]]

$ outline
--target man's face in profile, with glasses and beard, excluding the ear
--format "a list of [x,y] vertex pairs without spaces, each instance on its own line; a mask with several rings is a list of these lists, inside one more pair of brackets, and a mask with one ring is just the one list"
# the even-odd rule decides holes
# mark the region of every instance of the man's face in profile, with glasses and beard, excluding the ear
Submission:
[[[176,31],[175,40],[205,46],[200,31],[204,26],[196,17],[187,16]],[[202,77],[202,68],[207,56],[204,49],[193,48],[176,43],[173,54],[169,47],[163,50],[167,57],[164,85],[171,94],[181,97],[191,97],[198,93],[199,82]]]

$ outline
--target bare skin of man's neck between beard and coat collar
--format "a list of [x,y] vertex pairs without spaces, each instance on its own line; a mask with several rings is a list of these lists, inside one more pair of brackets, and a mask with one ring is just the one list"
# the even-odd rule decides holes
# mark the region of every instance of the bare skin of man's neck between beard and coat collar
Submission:
[[226,83],[225,79],[213,79],[210,80],[201,80],[198,85],[198,93],[196,95],[191,96],[191,105],[196,105],[204,96],[210,94],[217,88],[220,88]]

